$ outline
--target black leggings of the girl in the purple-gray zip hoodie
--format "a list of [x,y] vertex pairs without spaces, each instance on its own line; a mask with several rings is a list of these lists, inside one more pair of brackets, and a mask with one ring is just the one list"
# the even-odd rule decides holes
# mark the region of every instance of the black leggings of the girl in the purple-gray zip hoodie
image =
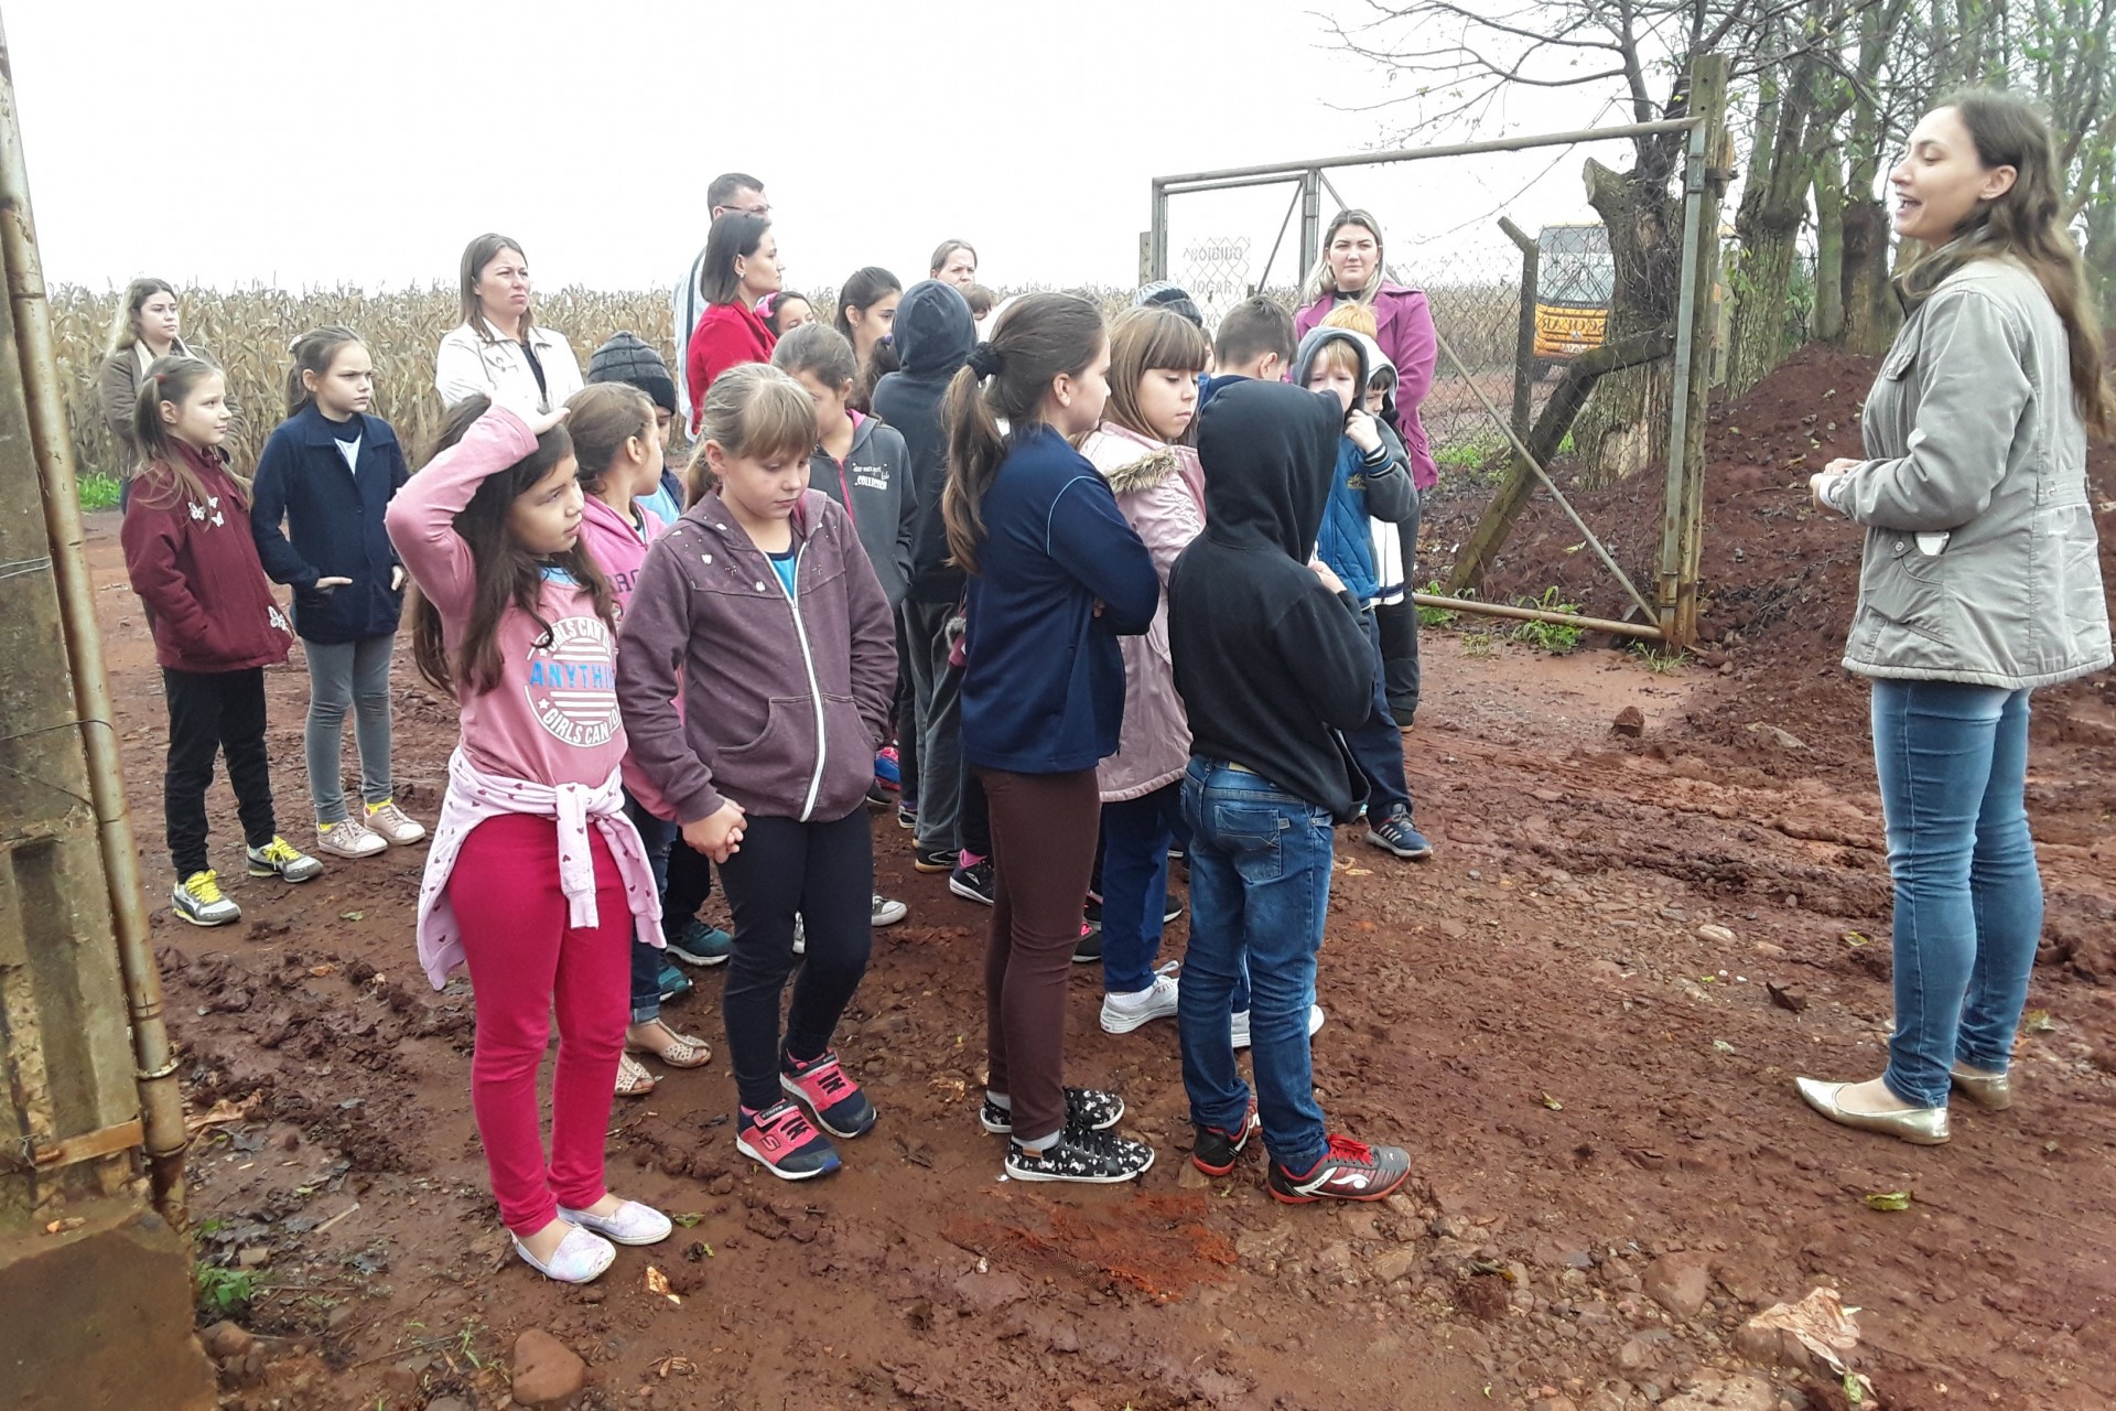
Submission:
[[743,848],[719,865],[734,912],[734,956],[722,1018],[743,1106],[779,1102],[779,998],[794,973],[794,918],[806,927],[785,1051],[829,1047],[838,1015],[868,973],[874,948],[874,831],[865,806],[832,823],[749,814]]

